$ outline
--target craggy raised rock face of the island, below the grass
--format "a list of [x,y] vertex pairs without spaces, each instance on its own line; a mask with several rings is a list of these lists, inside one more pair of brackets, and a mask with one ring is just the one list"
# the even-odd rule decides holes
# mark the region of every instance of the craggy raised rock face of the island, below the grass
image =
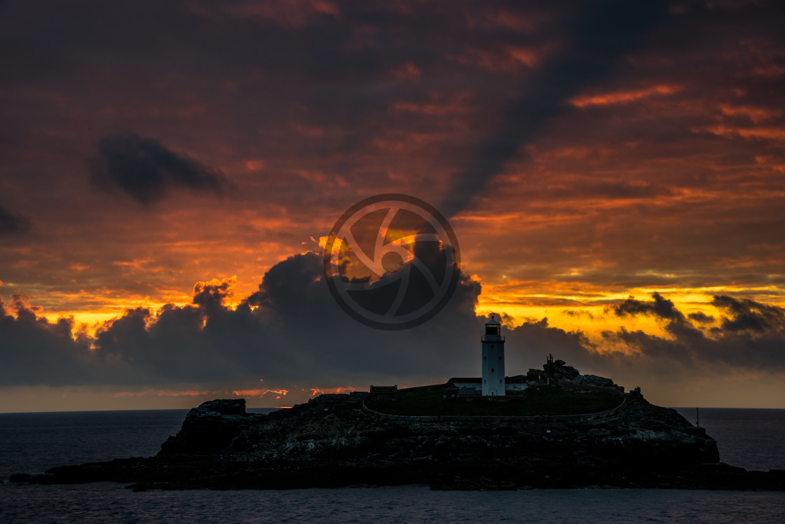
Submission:
[[[243,416],[237,412],[243,401],[213,401],[192,409],[183,429],[164,443],[159,456],[215,453],[263,463],[352,464],[582,457],[609,467],[651,465],[652,460],[659,467],[685,467],[719,460],[714,438],[674,409],[653,406],[639,390],[626,400],[626,409],[610,419],[540,423],[482,417],[459,422],[382,418],[348,398],[316,398],[267,416]],[[237,406],[220,414],[215,402]]]

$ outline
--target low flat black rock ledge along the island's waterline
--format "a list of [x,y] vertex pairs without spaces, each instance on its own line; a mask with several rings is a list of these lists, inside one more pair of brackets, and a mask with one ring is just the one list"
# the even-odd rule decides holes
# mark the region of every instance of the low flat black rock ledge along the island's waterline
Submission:
[[747,471],[728,464],[685,469],[633,470],[608,464],[549,458],[500,464],[279,464],[210,457],[135,457],[51,468],[43,475],[15,475],[31,485],[116,482],[126,489],[309,489],[427,485],[433,490],[516,489],[728,489],[785,490],[785,470]]

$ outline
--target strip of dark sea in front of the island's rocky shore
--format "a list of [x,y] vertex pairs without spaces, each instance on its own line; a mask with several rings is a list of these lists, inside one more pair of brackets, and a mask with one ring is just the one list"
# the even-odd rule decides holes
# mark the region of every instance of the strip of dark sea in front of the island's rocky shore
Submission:
[[744,522],[776,524],[785,496],[677,489],[430,491],[428,486],[151,491],[0,486],[2,522]]

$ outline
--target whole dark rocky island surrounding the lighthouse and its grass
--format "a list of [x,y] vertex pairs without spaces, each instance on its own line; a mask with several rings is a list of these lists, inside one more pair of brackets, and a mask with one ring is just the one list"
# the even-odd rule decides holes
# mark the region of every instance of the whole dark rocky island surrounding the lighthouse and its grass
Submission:
[[[484,401],[526,406],[537,388],[546,388],[571,395],[615,391],[615,406],[551,415],[475,416],[455,409],[396,415],[373,409],[384,404],[364,393],[320,395],[290,409],[251,414],[244,399],[218,399],[192,409],[155,457],[64,466],[24,480],[124,482],[137,490],[401,484],[785,489],[785,471],[722,464],[714,438],[674,409],[652,405],[640,389],[625,393],[612,380],[582,376],[564,362],[548,366],[551,385],[539,383],[543,372],[532,369],[526,395]],[[411,390],[399,390],[397,398],[430,391],[436,402],[466,402],[455,397],[451,382]]]

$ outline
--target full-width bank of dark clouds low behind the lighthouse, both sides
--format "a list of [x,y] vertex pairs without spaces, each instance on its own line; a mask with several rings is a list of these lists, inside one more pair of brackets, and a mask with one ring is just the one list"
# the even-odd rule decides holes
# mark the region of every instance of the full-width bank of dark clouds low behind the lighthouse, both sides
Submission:
[[[95,337],[77,331],[68,318],[49,322],[26,297],[14,296],[9,304],[0,302],[0,385],[199,384],[231,390],[264,379],[269,387],[299,384],[300,395],[308,396],[311,388],[418,385],[479,373],[484,318],[474,313],[478,282],[462,277],[439,315],[414,329],[390,332],[345,315],[322,271],[318,253],[283,260],[267,272],[257,293],[234,309],[225,304],[233,278],[199,282],[192,304],[126,311],[104,323]],[[652,377],[666,382],[685,373],[710,377],[716,365],[785,370],[783,310],[754,300],[716,300],[727,315],[710,329],[693,326],[658,293],[652,300],[627,299],[613,310],[655,315],[666,322],[667,338],[622,328],[592,342],[580,331],[550,326],[545,318],[524,322],[506,329],[507,374],[539,368],[549,354],[628,387]],[[765,318],[751,322],[750,315]]]

